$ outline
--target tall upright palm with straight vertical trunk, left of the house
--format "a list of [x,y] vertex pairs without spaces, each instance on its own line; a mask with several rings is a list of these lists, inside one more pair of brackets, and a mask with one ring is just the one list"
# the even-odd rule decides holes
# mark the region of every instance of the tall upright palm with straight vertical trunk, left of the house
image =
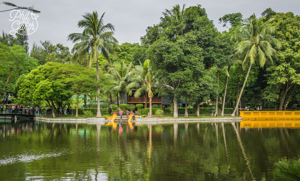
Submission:
[[111,24],[103,24],[102,14],[100,19],[98,18],[97,11],[93,13],[85,13],[83,20],[78,21],[78,27],[84,28],[82,33],[71,33],[68,36],[68,40],[76,43],[72,48],[72,59],[82,60],[85,56],[89,57],[89,68],[96,61],[97,70],[97,116],[102,117],[100,111],[100,87],[99,87],[99,64],[98,56],[103,55],[109,62],[109,53],[115,56],[115,48],[120,50],[118,41],[113,37],[115,27]]

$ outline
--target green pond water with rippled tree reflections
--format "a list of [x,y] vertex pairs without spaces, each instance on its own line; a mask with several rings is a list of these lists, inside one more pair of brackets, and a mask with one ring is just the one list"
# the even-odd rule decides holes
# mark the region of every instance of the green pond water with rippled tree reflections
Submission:
[[0,122],[0,180],[272,180],[300,129]]

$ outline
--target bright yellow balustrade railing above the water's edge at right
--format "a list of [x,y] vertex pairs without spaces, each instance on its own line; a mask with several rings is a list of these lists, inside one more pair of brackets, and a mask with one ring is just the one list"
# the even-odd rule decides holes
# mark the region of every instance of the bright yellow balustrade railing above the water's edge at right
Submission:
[[300,111],[240,111],[243,119],[300,119]]

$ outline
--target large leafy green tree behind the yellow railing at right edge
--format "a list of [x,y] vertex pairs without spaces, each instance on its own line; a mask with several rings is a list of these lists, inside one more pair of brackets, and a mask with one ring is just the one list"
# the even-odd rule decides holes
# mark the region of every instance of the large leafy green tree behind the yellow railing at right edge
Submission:
[[281,56],[267,68],[269,77],[264,96],[268,101],[278,102],[278,110],[283,110],[284,103],[291,100],[286,100],[290,90],[297,89],[295,86],[300,85],[300,49],[297,46],[300,44],[298,39],[300,36],[300,17],[288,12],[278,13],[273,18],[275,20],[272,25],[277,29],[274,35],[281,41],[282,49],[279,50]]

